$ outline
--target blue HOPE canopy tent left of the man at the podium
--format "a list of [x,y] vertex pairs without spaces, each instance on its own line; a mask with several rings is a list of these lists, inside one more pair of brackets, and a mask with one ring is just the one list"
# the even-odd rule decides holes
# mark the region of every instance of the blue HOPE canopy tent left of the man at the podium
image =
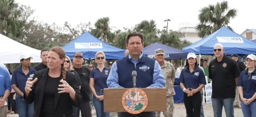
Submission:
[[124,49],[111,46],[93,36],[88,31],[62,48],[70,59],[73,59],[76,52],[81,52],[83,59],[95,59],[95,54],[98,51],[102,51],[105,53],[106,60],[121,59],[125,53]]

